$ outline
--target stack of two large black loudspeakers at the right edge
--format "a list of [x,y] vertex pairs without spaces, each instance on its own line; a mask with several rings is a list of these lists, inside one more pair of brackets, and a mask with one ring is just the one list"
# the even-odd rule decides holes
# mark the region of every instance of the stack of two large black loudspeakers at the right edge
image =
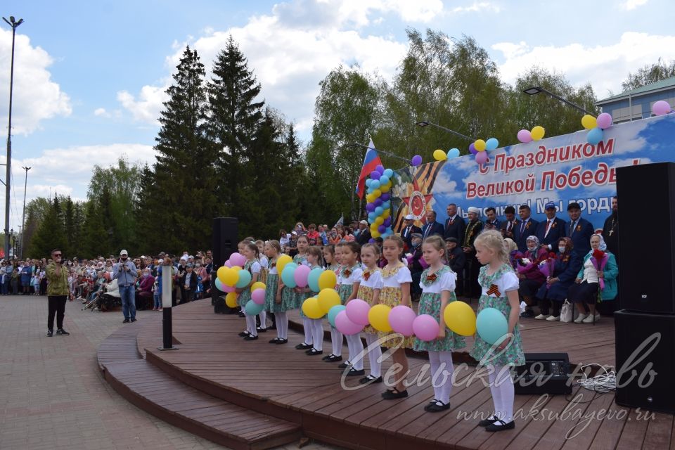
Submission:
[[675,164],[618,167],[617,197],[616,401],[675,413]]

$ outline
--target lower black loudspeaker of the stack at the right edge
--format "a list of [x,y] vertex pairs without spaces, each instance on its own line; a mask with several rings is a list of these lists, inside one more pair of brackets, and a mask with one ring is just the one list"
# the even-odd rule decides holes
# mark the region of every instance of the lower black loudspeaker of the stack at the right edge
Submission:
[[617,404],[675,413],[675,316],[621,310],[614,321]]

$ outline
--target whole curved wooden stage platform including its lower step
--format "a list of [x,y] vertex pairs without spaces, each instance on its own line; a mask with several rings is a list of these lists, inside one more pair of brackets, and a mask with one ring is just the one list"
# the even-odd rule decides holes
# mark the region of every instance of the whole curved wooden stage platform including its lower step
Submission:
[[[99,349],[105,379],[141,409],[234,449],[271,448],[301,437],[349,449],[675,449],[673,415],[624,408],[613,393],[594,395],[578,385],[567,397],[516,395],[515,430],[486,432],[473,415],[491,411],[490,392],[475,366],[461,366],[471,361],[465,352],[454,356],[461,371],[451,409],[426,413],[423,406],[433,397],[428,377],[409,387],[408,398],[385,401],[385,385],[361,387],[359,377],[341,383],[337,364],[296,350],[303,335],[294,330],[287,345],[270,345],[272,330],[247,342],[237,337],[244,319],[214,314],[210,300],[173,313],[178,350],[157,349],[160,313],[125,326]],[[293,321],[302,326],[297,316]],[[614,364],[611,318],[594,326],[521,324],[525,352],[567,352],[573,364]],[[412,381],[427,361],[414,355],[409,361]],[[385,361],[383,373],[389,367]]]

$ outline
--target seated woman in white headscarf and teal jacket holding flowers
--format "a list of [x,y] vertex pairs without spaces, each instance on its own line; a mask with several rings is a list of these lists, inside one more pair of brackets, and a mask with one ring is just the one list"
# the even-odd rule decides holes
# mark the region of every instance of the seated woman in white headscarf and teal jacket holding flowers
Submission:
[[[579,317],[574,323],[595,323],[600,320],[596,304],[614,300],[617,297],[617,276],[619,267],[612,253],[607,251],[603,236],[591,236],[591,251],[584,257],[577,280],[570,286],[567,300],[577,304]],[[599,294],[599,295],[598,295]]]

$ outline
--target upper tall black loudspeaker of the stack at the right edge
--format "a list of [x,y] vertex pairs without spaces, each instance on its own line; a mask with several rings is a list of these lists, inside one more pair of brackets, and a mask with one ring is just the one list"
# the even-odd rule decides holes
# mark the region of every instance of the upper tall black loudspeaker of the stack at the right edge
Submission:
[[675,314],[675,164],[617,168],[619,307]]

